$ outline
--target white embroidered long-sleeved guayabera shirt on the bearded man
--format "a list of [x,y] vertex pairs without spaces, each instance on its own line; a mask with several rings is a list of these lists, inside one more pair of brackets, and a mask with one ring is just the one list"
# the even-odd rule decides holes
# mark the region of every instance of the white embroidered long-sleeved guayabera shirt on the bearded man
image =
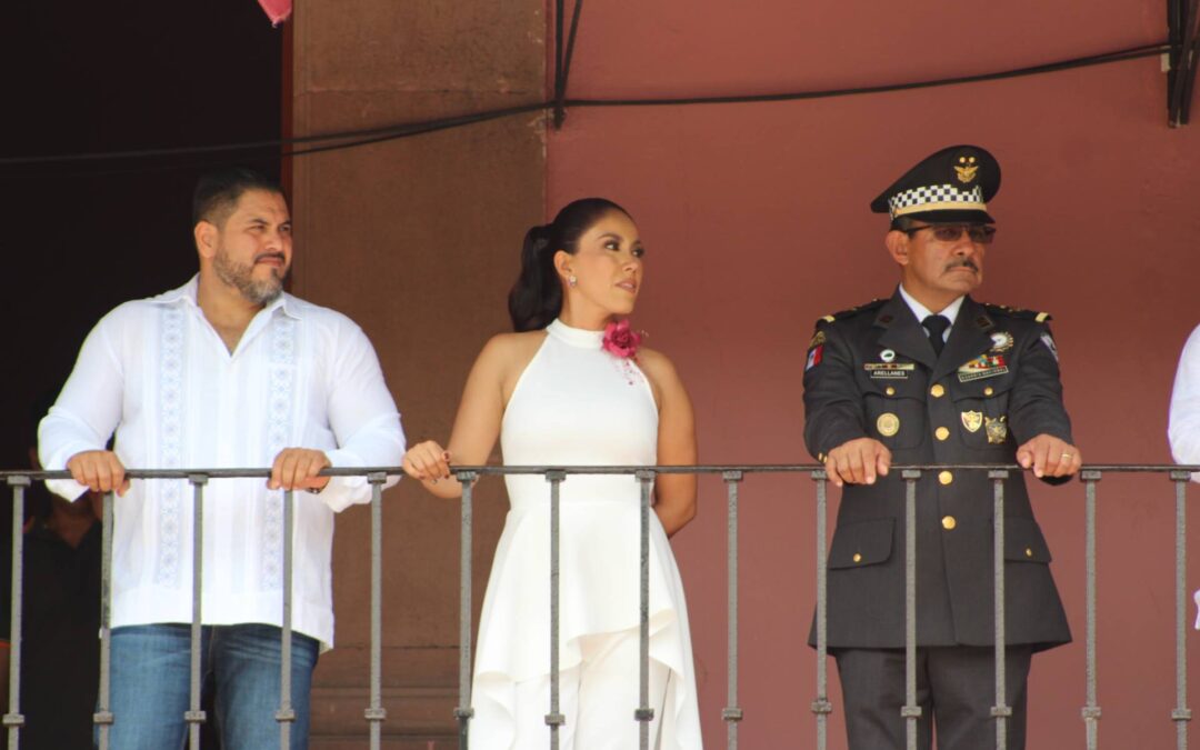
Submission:
[[[92,329],[42,420],[43,467],[62,469],[114,432],[127,468],[263,468],[284,448],[323,450],[335,467],[400,463],[400,414],[354,322],[283,294],[230,354],[197,305],[197,283],[126,302]],[[68,499],[85,490],[47,484]],[[114,628],[191,622],[192,494],[185,480],[134,480],[116,499]],[[334,642],[334,514],[370,499],[365,478],[294,493],[293,628],[325,648]],[[209,481],[205,624],[282,623],[282,491],[268,491],[263,479]]]

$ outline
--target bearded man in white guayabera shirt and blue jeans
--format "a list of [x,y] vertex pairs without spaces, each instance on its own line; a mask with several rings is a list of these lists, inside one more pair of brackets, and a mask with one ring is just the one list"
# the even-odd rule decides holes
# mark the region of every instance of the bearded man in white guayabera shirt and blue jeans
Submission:
[[[227,750],[278,746],[283,491],[293,496],[292,748],[308,742],[308,689],[334,642],[334,514],[371,499],[362,476],[325,467],[396,466],[400,414],[366,335],[283,292],[292,218],[280,187],[246,169],[202,178],[193,199],[200,270],[126,302],[84,341],[42,420],[47,482],[66,498],[115,491],[110,743],[180,748],[190,698],[192,492],[130,482],[125,467],[270,466],[204,492],[203,648]],[[113,450],[106,450],[115,434]]]

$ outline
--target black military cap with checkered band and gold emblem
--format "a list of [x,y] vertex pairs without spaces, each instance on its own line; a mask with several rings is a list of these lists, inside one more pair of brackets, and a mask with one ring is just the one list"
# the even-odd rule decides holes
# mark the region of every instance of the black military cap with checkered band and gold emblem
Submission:
[[938,223],[995,223],[988,202],[1000,191],[1000,163],[972,145],[926,156],[871,202],[892,221],[902,216]]

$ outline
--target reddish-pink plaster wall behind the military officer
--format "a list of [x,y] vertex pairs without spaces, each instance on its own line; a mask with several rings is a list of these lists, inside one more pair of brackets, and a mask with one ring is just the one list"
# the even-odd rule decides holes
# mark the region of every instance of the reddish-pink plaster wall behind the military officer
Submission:
[[[988,72],[1162,40],[1164,5],[592,2],[570,95],[772,92]],[[1088,462],[1166,462],[1175,362],[1200,323],[1200,124],[1165,126],[1165,85],[1159,61],[1145,59],[839,100],[575,109],[550,136],[547,211],[604,194],[634,214],[648,247],[636,323],[690,386],[702,461],[809,462],[800,376],[812,323],[888,295],[896,280],[882,246],[887,220],[868,202],[938,148],[984,145],[1004,181],[976,296],[1054,313]],[[806,479],[752,478],[743,498],[742,737],[750,748],[811,746],[815,667],[802,642],[814,601],[812,491]],[[1082,738],[1082,498],[1079,485],[1034,494],[1076,643],[1034,661],[1032,749]],[[1169,746],[1172,490],[1162,479],[1111,478],[1099,498],[1100,736],[1108,746]],[[724,490],[710,480],[700,518],[674,547],[712,746],[725,736],[724,534]],[[1195,634],[1189,644],[1200,652]],[[840,748],[836,684],[833,698],[830,746]]]

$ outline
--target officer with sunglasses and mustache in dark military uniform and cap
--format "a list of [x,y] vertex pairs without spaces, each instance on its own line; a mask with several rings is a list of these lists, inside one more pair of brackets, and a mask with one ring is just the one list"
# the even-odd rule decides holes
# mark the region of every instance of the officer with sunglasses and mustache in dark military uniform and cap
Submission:
[[[829,552],[829,648],[851,750],[905,746],[904,481],[893,463],[1019,463],[1051,484],[1081,457],[1045,313],[982,305],[1000,166],[943,149],[871,203],[900,268],[890,299],[817,322],[804,437],[844,487]],[[1050,551],[1020,474],[1004,482],[1008,748],[1025,746],[1031,655],[1070,641]],[[992,482],[925,472],[917,486],[919,746],[995,746]]]

